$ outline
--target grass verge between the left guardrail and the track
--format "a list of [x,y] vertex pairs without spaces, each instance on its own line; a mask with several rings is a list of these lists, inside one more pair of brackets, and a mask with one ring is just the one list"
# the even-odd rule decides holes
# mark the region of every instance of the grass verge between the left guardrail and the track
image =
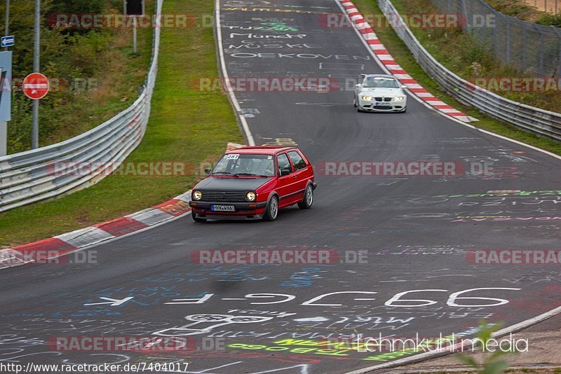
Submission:
[[[212,1],[165,0],[164,14],[212,14]],[[228,141],[243,142],[222,92],[191,89],[195,78],[216,77],[211,28],[163,28],[156,90],[147,132],[131,162],[182,161],[191,165],[220,155]],[[60,200],[0,214],[0,246],[43,239],[157,205],[192,186],[185,176],[108,176]]]

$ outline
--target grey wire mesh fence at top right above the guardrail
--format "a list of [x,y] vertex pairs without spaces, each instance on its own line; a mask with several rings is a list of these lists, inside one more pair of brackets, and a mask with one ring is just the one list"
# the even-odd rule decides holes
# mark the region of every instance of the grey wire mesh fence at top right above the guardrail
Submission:
[[483,0],[431,2],[442,12],[458,14],[464,30],[504,64],[533,76],[561,76],[561,29],[504,15]]

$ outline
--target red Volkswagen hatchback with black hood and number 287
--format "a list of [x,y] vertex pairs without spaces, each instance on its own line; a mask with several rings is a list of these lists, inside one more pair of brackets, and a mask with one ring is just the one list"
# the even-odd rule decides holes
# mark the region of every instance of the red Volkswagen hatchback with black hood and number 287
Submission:
[[313,167],[299,149],[251,146],[227,151],[191,193],[194,221],[264,219],[278,209],[313,204]]

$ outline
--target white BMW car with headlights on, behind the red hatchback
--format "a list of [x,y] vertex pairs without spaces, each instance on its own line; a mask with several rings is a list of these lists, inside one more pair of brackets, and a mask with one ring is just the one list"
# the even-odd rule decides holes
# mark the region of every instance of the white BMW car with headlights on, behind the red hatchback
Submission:
[[360,74],[362,83],[355,86],[353,105],[357,111],[407,111],[407,96],[399,81],[387,74]]

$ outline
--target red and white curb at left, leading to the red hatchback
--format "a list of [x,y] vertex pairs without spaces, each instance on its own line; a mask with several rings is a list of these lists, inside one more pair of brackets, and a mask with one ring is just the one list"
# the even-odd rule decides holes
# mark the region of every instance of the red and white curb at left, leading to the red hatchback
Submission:
[[[241,148],[242,146],[241,144],[228,143],[227,150]],[[58,258],[94,244],[114,240],[124,235],[173,221],[191,212],[190,200],[191,190],[155,207],[128,214],[118,219],[97,223],[71,233],[39,240],[39,242],[23,244],[10,249],[0,249],[0,270],[25,265],[26,263],[42,263],[42,261],[47,261],[50,258]]]

